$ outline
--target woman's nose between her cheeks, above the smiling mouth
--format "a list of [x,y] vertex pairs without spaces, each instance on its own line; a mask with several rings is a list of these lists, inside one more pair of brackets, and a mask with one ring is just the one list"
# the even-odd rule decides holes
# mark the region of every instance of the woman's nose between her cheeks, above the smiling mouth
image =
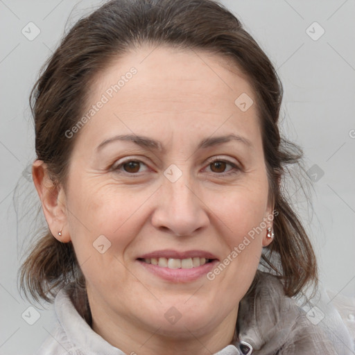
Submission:
[[164,178],[151,220],[158,230],[191,236],[209,224],[208,203],[203,201],[196,184],[189,183],[187,175],[182,174],[176,182]]

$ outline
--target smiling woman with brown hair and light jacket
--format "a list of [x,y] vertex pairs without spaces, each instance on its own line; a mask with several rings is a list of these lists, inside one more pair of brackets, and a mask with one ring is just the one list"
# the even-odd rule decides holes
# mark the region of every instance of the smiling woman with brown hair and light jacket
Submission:
[[32,94],[49,231],[21,284],[60,321],[38,354],[340,354],[291,298],[317,267],[282,194],[300,151],[281,101],[214,1],[116,0],[78,21]]

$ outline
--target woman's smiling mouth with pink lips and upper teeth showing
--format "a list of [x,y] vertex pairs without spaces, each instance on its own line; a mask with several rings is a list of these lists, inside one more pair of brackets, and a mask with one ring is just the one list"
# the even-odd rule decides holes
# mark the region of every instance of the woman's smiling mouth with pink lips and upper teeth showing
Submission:
[[174,283],[192,282],[218,263],[213,254],[201,250],[161,250],[142,255],[137,261],[150,274]]

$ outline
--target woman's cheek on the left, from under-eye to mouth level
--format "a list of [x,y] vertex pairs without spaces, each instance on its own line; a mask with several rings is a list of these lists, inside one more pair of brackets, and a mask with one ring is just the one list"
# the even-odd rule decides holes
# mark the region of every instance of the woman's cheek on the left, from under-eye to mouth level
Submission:
[[114,293],[112,280],[117,278],[129,284],[123,254],[139,230],[137,206],[146,200],[137,195],[133,199],[124,191],[114,193],[112,187],[99,184],[72,189],[69,230],[73,248],[88,285],[94,284],[95,289]]

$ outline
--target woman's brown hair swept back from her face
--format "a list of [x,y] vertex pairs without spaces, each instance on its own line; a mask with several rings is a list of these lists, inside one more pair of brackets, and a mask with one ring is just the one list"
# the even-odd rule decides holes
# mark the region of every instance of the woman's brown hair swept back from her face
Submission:
[[[83,115],[94,76],[110,60],[146,43],[224,55],[246,74],[257,96],[270,197],[278,212],[275,240],[261,263],[283,280],[286,295],[297,294],[310,282],[316,284],[311,243],[280,186],[285,164],[295,164],[302,156],[297,146],[279,135],[282,85],[257,42],[214,0],[113,0],[71,28],[46,63],[30,99],[37,159],[47,164],[53,182],[65,182],[76,138],[67,139],[65,132]],[[272,261],[275,254],[279,263]],[[49,231],[20,271],[21,288],[35,300],[51,300],[69,282],[85,283],[71,243],[60,243]]]

